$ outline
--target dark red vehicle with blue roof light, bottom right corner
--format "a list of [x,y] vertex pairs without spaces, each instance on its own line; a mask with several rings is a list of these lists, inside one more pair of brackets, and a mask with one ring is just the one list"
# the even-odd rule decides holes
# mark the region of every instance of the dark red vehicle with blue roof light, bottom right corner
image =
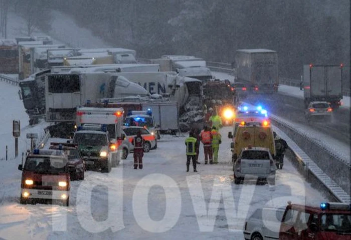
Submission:
[[320,206],[292,204],[285,208],[279,239],[350,239],[351,204],[322,202]]

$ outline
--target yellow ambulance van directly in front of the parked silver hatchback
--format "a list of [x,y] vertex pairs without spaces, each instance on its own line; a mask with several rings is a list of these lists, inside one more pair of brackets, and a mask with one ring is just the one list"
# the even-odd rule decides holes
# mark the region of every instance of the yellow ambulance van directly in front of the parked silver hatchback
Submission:
[[[232,132],[228,132],[228,137],[233,138]],[[245,125],[239,125],[235,134],[235,142],[231,142],[232,161],[237,159],[242,148],[249,146],[266,147],[275,158],[274,135],[271,126],[249,122]]]

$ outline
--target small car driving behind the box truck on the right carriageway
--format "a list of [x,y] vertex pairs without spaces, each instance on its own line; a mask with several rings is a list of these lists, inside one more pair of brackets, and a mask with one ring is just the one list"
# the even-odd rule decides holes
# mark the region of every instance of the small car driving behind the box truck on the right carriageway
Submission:
[[311,101],[305,111],[307,121],[313,118],[327,118],[331,121],[332,108],[326,101]]

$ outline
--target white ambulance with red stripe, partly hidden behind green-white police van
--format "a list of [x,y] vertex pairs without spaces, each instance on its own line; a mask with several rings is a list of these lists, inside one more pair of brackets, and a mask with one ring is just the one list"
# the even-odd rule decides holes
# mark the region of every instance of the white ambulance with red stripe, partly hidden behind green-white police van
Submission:
[[121,107],[79,107],[77,109],[76,127],[84,124],[101,124],[106,126],[110,143],[110,151],[117,155],[117,162],[112,161],[112,166],[125,159],[129,152],[123,134],[124,110]]

